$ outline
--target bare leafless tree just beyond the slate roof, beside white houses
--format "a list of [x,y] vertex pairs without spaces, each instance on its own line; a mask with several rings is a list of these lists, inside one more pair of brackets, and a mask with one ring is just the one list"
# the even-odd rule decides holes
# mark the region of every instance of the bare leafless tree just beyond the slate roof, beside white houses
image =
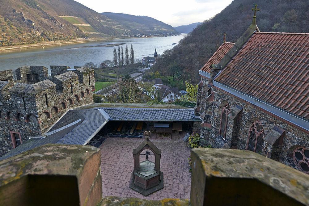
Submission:
[[122,79],[118,79],[119,92],[118,99],[121,103],[140,103],[142,98],[141,85],[132,77],[126,75]]

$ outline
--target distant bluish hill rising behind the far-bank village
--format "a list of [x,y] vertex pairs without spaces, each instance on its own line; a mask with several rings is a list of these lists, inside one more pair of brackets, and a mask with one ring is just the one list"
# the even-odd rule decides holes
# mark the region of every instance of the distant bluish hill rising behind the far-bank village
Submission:
[[128,34],[163,34],[177,33],[177,31],[166,23],[148,16],[134,16],[112,12],[103,12],[102,15],[115,22],[115,30],[120,33]]

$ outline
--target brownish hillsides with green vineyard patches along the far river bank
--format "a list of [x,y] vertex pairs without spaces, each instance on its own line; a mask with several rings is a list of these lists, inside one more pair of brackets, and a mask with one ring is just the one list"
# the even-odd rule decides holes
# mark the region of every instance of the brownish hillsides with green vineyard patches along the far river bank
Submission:
[[0,5],[0,46],[136,35],[139,30],[145,34],[176,32],[149,17],[139,17],[144,24],[118,22],[73,0],[0,0]]

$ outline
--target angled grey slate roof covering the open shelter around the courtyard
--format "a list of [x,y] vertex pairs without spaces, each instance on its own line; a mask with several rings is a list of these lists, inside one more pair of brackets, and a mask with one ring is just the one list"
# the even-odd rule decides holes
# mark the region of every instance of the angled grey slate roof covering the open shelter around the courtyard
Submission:
[[194,116],[193,109],[95,107],[69,110],[45,133],[47,136],[24,142],[0,160],[49,143],[84,145],[110,120],[200,121],[200,118]]

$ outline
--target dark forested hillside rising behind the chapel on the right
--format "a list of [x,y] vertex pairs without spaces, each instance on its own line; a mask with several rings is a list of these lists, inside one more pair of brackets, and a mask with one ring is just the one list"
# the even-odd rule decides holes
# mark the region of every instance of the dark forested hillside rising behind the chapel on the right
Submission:
[[199,82],[199,69],[222,44],[223,34],[226,41],[236,42],[249,27],[255,3],[260,8],[256,21],[261,32],[309,32],[308,0],[234,0],[161,55],[154,68],[165,83]]

